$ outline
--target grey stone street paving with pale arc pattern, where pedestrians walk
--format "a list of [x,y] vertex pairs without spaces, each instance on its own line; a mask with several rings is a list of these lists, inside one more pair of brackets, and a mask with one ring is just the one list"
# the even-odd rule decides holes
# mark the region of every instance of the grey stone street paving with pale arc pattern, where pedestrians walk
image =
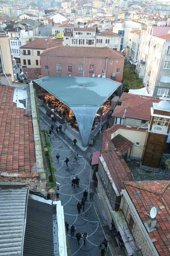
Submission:
[[[51,126],[51,119],[42,111],[39,111],[39,114],[41,128],[49,129],[49,126]],[[76,227],[74,237],[70,236],[70,231],[68,232],[71,254],[75,256],[101,255],[98,245],[105,237],[109,241],[105,255],[124,255],[100,215],[100,201],[92,182],[93,171],[89,165],[90,155],[94,151],[99,151],[100,148],[100,138],[97,138],[93,147],[88,147],[86,151],[82,151],[77,145],[74,146],[73,141],[71,141],[71,139],[64,133],[59,135],[57,135],[56,132],[52,133],[51,154],[54,160],[54,167],[57,169],[57,182],[60,183],[59,198],[61,199],[64,208],[65,221],[69,223],[69,226],[74,224]],[[57,153],[60,155],[59,164],[56,159]],[[74,156],[77,153],[82,156],[82,158],[79,159],[79,163],[76,163],[74,160]],[[68,167],[66,167],[66,163],[64,162],[65,157],[70,159]],[[76,176],[79,177],[80,181],[79,187],[74,188],[71,185],[71,181],[73,177]],[[94,201],[90,201],[88,195],[87,202],[85,203],[85,210],[83,211],[83,209],[81,209],[80,214],[78,214],[77,203],[81,201],[83,191],[85,189],[89,191],[90,188],[95,192]],[[75,238],[77,232],[80,232],[80,234],[87,232],[88,238],[86,246],[83,245],[82,239],[80,240],[80,246],[78,245]]]

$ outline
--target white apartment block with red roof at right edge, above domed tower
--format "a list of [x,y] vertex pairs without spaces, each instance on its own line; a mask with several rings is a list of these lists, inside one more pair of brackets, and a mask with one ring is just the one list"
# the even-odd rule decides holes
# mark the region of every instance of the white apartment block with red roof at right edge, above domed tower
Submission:
[[170,34],[152,36],[145,65],[144,85],[154,97],[170,93]]

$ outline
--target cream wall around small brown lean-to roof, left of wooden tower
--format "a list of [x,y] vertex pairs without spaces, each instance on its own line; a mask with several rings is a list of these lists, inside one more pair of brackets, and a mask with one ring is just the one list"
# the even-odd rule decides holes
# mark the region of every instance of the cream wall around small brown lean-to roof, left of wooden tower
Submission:
[[[138,130],[130,130],[130,129],[119,129],[116,132],[112,133],[111,139],[115,137],[117,134],[121,134],[128,140],[132,141],[133,148],[131,150],[131,157],[136,158],[136,159],[141,159],[142,157],[142,152],[145,144],[145,138],[147,135],[147,130],[138,131]],[[136,144],[139,143],[139,144]],[[128,152],[129,155],[130,152]]]

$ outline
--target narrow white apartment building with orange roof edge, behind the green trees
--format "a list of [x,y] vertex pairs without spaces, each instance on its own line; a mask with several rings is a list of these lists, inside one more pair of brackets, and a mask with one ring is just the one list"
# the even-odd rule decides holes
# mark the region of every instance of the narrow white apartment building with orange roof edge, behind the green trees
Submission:
[[133,37],[131,39],[130,56],[128,60],[130,61],[131,64],[137,64],[141,30],[133,30],[130,33],[133,34]]

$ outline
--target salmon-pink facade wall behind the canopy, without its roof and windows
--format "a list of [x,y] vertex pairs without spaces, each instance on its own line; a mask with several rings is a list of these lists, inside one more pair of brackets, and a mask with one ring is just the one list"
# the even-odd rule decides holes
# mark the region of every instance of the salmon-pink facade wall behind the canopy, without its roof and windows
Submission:
[[[105,69],[106,58],[89,58],[89,57],[57,57],[57,56],[41,56],[41,70],[42,75],[59,75],[59,76],[80,76],[80,77],[89,77],[89,66],[90,64],[94,64],[94,74],[102,74],[102,69]],[[110,60],[113,60],[113,64],[110,64]],[[62,73],[56,72],[56,64],[62,64]],[[67,64],[73,64],[72,69],[73,73],[67,73]],[[84,74],[79,74],[78,65],[83,64]],[[49,67],[49,70],[45,69],[45,66]],[[124,59],[123,58],[108,58],[107,64],[107,72],[106,77],[111,78],[112,73],[116,74],[116,81],[122,81],[123,75],[123,67],[124,67]],[[119,72],[116,72],[119,69]]]

